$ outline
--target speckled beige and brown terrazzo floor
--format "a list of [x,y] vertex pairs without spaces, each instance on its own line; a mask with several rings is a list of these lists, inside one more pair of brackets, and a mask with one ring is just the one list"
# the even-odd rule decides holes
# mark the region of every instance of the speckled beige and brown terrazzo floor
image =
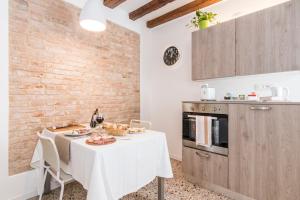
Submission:
[[[230,200],[220,194],[203,189],[187,182],[182,174],[181,162],[172,160],[174,178],[165,181],[166,200]],[[65,186],[64,200],[85,200],[86,191],[73,182]],[[56,200],[59,197],[59,188],[50,194],[44,195],[43,200]],[[38,198],[32,198],[35,200]],[[121,200],[157,200],[157,180],[149,183],[135,193],[123,197]]]

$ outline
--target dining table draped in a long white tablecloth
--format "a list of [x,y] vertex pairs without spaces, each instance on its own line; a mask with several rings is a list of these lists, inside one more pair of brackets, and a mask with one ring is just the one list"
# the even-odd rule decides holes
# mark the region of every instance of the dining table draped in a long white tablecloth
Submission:
[[[42,131],[42,135],[53,140],[58,134],[64,132]],[[173,177],[165,133],[146,130],[116,137],[116,142],[107,145],[89,145],[86,143],[88,137],[70,140],[70,160],[61,161],[61,169],[87,190],[88,200],[120,199],[156,177],[158,199],[164,199],[164,179]],[[42,162],[42,148],[38,142],[31,161],[32,167],[37,168],[37,181],[42,181]]]

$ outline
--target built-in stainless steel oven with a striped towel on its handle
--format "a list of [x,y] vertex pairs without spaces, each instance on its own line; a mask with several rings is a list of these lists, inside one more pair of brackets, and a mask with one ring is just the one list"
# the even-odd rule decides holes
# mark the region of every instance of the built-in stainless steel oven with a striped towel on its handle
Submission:
[[[211,144],[196,144],[196,118],[210,117],[209,133]],[[228,105],[217,103],[183,103],[182,114],[183,145],[195,149],[228,155]]]

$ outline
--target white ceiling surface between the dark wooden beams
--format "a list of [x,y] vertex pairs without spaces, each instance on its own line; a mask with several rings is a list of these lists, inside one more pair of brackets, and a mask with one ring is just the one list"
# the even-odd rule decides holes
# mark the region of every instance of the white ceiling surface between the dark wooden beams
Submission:
[[[79,7],[83,7],[86,0],[65,0]],[[101,1],[101,0],[99,0]],[[134,11],[135,9],[141,7],[142,5],[150,2],[151,0],[127,0],[117,7],[127,13]],[[147,22],[156,17],[159,17],[169,11],[172,11],[180,6],[192,2],[193,0],[175,0],[172,3],[165,5],[164,7],[149,13],[148,15],[136,20],[141,22]],[[289,0],[223,0],[217,4],[205,8],[211,12],[218,14],[218,20],[226,21],[228,19],[237,18],[239,16],[255,12],[267,7],[274,6]],[[115,8],[116,9],[116,8]]]

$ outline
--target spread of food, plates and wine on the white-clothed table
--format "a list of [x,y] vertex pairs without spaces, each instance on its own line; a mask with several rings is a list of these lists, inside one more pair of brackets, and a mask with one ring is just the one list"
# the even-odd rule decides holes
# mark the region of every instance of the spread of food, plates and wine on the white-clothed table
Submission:
[[97,108],[93,112],[89,125],[72,123],[47,128],[49,132],[55,133],[57,148],[66,148],[71,140],[81,138],[86,138],[85,143],[94,146],[113,144],[118,140],[131,140],[133,135],[145,133],[151,127],[151,122],[141,120],[131,120],[129,124],[104,122],[104,115],[99,110]]

